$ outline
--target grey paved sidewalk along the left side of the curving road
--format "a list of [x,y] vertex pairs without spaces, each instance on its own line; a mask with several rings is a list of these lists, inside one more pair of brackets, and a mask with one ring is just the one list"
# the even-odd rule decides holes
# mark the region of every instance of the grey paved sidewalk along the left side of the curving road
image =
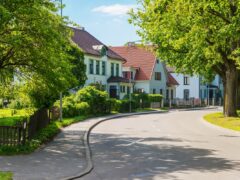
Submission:
[[73,124],[30,155],[0,156],[0,171],[13,172],[15,180],[59,180],[78,175],[89,166],[84,134],[91,126],[105,119],[149,113],[159,112],[119,114]]

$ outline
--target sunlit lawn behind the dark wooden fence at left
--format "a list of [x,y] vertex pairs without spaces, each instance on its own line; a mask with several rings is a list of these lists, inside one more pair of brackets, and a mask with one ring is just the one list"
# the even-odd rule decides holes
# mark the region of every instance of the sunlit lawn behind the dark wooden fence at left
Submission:
[[26,109],[0,109],[0,126],[13,126],[17,121],[22,120],[24,116],[28,116],[32,112],[32,110]]

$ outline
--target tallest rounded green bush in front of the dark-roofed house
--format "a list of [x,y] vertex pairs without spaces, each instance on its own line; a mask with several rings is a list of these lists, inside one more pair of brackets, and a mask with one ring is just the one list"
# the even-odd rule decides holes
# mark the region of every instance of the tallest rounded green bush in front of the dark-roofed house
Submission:
[[108,93],[94,86],[87,86],[76,94],[76,102],[86,102],[91,107],[91,114],[103,114],[107,111]]

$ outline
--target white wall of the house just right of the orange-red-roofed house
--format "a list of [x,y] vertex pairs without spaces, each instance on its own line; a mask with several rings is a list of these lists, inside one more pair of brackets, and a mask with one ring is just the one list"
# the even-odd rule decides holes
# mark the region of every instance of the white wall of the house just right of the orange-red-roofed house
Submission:
[[190,77],[190,83],[189,85],[184,85],[184,75],[183,74],[177,74],[172,73],[172,76],[177,80],[179,83],[179,86],[176,87],[176,98],[183,99],[184,98],[184,89],[189,89],[189,97],[190,98],[199,98],[199,77],[198,76],[192,76]]

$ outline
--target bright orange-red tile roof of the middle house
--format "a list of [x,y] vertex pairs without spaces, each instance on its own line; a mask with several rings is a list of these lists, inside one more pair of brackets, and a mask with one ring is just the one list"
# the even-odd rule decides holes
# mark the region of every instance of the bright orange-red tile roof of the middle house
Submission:
[[124,67],[139,67],[135,80],[151,80],[156,57],[149,49],[139,46],[110,47],[127,60]]

